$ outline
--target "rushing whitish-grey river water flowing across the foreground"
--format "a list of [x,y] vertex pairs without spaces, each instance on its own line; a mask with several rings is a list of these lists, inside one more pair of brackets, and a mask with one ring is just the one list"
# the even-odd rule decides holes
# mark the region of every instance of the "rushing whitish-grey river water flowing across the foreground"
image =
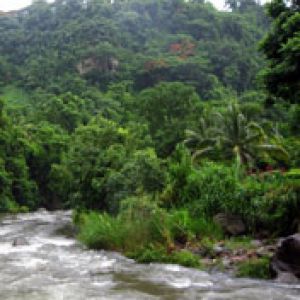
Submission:
[[[68,212],[37,212],[0,221],[1,300],[300,299],[300,286],[233,279],[177,265],[140,265],[89,251],[62,236]],[[29,245],[12,246],[16,238]]]

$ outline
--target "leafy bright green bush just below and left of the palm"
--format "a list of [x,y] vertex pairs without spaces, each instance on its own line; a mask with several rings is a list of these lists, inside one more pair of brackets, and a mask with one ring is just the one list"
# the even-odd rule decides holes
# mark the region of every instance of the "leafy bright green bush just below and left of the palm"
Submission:
[[192,216],[198,218],[237,210],[241,199],[234,168],[205,162],[195,169],[186,150],[177,151],[179,158],[170,162],[169,184],[161,196],[163,205],[188,207]]

